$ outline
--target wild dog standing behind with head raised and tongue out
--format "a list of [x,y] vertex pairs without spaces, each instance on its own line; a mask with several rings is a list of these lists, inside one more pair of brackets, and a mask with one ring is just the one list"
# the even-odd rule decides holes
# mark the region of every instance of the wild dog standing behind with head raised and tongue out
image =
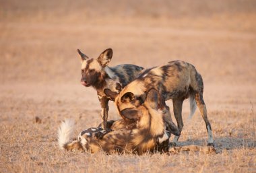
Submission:
[[125,85],[133,81],[143,69],[137,65],[117,65],[108,67],[113,55],[113,50],[108,48],[100,54],[98,59],[90,59],[77,49],[82,59],[82,85],[92,86],[96,89],[101,105],[102,127],[106,129],[108,119],[108,101],[111,100],[104,94],[104,89],[119,93]]

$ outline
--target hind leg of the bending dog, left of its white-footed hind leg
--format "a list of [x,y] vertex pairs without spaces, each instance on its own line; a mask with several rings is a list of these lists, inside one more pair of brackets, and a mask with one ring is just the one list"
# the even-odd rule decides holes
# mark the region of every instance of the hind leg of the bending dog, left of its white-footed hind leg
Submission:
[[[183,99],[173,99],[172,104],[173,104],[174,116],[177,120],[178,128],[179,128],[179,131],[181,133],[181,131],[183,129],[183,118],[182,118]],[[174,137],[174,139],[173,139],[173,144],[174,145],[177,145],[179,137],[180,136],[175,136]]]

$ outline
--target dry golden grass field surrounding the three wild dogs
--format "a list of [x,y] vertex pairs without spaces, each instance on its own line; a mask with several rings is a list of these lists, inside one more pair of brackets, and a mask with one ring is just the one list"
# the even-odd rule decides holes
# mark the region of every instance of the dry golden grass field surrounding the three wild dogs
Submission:
[[[113,48],[110,66],[195,65],[217,153],[61,151],[61,120],[75,120],[74,136],[100,123],[96,91],[79,82],[77,48],[94,58]],[[0,81],[0,172],[256,172],[254,0],[0,0]],[[120,118],[113,102],[109,114]],[[199,111],[188,114],[186,100],[179,146],[205,146]]]

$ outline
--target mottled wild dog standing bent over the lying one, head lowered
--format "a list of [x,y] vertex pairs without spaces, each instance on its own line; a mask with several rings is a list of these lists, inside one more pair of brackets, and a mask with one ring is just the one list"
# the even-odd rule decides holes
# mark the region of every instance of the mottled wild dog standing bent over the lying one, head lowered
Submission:
[[[137,107],[143,103],[145,94],[150,88],[156,88],[165,100],[172,99],[173,112],[180,132],[183,129],[183,118],[181,116],[183,101],[190,97],[190,116],[194,114],[195,105],[197,104],[205,121],[208,145],[214,146],[212,128],[207,118],[207,110],[203,101],[203,79],[193,65],[183,61],[170,61],[166,65],[143,71],[137,79],[129,83],[119,94],[110,90],[106,90],[105,93],[115,98],[119,114],[127,116],[130,112],[137,110]],[[166,119],[166,123],[168,123],[168,116]],[[174,145],[177,144],[179,135],[174,137]]]

